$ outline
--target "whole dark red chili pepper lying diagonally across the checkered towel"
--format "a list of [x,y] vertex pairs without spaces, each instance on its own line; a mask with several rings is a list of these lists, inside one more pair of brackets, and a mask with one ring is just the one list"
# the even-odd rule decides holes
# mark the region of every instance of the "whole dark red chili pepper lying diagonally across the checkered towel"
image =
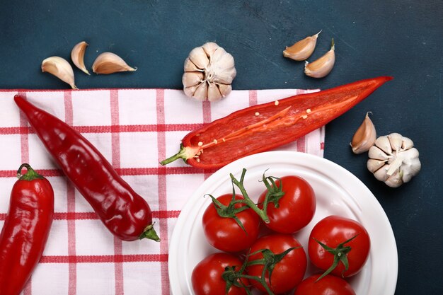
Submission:
[[149,204],[117,174],[91,142],[21,96],[15,96],[14,100],[47,151],[111,233],[124,241],[139,238],[160,241],[152,224]]

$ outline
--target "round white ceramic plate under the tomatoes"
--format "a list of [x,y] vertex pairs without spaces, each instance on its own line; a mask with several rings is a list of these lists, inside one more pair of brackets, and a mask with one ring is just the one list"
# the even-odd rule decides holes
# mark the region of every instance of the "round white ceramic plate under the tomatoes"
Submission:
[[[371,238],[369,260],[359,274],[348,279],[357,295],[393,295],[396,289],[398,257],[396,241],[389,220],[372,192],[349,171],[318,156],[293,151],[270,151],[241,158],[211,175],[190,197],[173,230],[169,248],[169,279],[173,295],[190,295],[192,270],[210,253],[219,252],[207,243],[202,229],[202,215],[211,203],[205,194],[214,196],[232,192],[229,173],[239,179],[247,169],[245,187],[248,195],[260,195],[264,185],[258,180],[266,175],[298,175],[307,180],[316,193],[317,209],[313,220],[295,236],[307,249],[313,226],[332,214],[359,221]],[[306,250],[305,250],[306,252]],[[307,255],[307,253],[306,253]],[[312,265],[306,277],[315,271]]]

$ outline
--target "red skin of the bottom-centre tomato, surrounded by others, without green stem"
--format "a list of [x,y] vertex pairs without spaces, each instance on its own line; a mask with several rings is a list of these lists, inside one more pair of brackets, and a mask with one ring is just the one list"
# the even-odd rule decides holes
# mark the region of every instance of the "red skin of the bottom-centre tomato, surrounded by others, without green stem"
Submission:
[[[275,294],[282,294],[289,290],[294,289],[294,287],[301,282],[306,272],[306,253],[304,253],[301,244],[297,241],[294,236],[289,234],[275,233],[268,236],[262,236],[251,247],[251,253],[261,249],[270,249],[274,254],[283,253],[285,250],[299,247],[290,251],[284,258],[277,262],[274,270],[272,271],[271,286],[270,289]],[[263,258],[262,253],[251,255],[248,261],[259,260]],[[263,271],[263,265],[250,265],[246,268],[248,274],[261,277]],[[266,272],[265,280],[269,286],[269,274]],[[251,285],[260,291],[265,291],[265,288],[255,280],[250,280]]]

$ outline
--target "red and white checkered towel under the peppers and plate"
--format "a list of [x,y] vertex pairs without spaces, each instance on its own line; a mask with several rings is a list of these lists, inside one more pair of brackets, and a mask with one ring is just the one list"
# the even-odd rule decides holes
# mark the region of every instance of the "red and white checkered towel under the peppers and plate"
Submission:
[[[45,253],[23,294],[170,294],[168,241],[180,209],[209,173],[183,161],[165,167],[159,161],[176,154],[180,140],[197,127],[306,92],[313,91],[233,91],[217,103],[201,103],[169,89],[0,90],[0,228],[21,163],[50,180],[55,193]],[[17,93],[74,126],[108,158],[151,206],[160,243],[122,242],[105,229],[19,112]],[[280,149],[323,156],[323,142],[324,127]]]

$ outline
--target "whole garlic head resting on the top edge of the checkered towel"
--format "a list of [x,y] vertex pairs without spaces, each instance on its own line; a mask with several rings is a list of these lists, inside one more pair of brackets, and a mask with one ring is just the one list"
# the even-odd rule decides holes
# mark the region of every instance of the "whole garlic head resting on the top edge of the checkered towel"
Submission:
[[236,76],[234,57],[214,42],[194,48],[185,59],[184,69],[183,91],[186,96],[202,101],[227,96]]

